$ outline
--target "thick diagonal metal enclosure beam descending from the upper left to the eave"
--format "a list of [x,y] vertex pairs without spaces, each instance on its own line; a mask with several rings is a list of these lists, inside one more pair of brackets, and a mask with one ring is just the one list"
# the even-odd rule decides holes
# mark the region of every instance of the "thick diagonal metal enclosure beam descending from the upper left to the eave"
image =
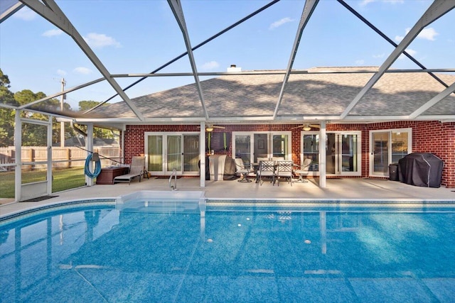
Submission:
[[80,33],[76,30],[73,24],[71,24],[70,20],[65,16],[65,13],[63,13],[63,11],[60,10],[60,7],[58,7],[58,5],[55,4],[55,1],[53,0],[43,0],[43,2],[34,0],[20,1],[26,6],[28,6],[30,9],[38,13],[38,15],[42,16],[47,21],[60,28],[60,30],[70,35],[70,37],[73,38],[73,40],[75,40],[75,43],[80,47],[82,52],[85,53],[88,59],[92,61],[93,65],[95,65],[97,70],[100,71],[101,75],[105,77],[107,82],[109,82],[109,84],[112,86],[115,92],[117,92],[117,94],[119,94],[119,96],[122,97],[122,99],[127,103],[129,108],[132,109],[134,114],[136,114],[137,118],[141,121],[144,120],[144,116],[142,116],[139,109],[137,109],[137,107],[132,103],[127,94],[125,94],[122,87],[120,87],[119,84],[115,81],[115,79],[111,77],[111,74],[109,73],[105,65],[102,64],[101,60],[98,59],[97,55],[95,55],[95,53],[87,44],[87,42],[85,42],[84,38],[82,38],[82,35],[80,35]]

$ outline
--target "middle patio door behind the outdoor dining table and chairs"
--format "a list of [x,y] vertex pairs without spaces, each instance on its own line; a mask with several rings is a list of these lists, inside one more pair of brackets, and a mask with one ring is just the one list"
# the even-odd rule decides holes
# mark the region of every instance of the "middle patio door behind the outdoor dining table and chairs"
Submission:
[[257,162],[257,158],[291,159],[291,132],[234,132],[232,158]]

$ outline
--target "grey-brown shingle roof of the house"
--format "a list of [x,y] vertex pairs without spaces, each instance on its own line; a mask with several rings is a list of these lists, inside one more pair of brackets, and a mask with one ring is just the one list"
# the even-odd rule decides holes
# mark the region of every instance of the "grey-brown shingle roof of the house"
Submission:
[[[322,73],[323,70],[327,68],[314,68],[308,70],[308,74],[291,74],[277,116],[284,119],[287,116],[338,116],[373,76],[373,72],[345,73],[346,69],[340,67],[331,68],[330,73]],[[455,82],[453,75],[438,77],[448,85]],[[283,79],[283,74],[223,75],[202,81],[208,116],[214,119],[272,116]],[[348,117],[407,116],[444,89],[426,72],[386,73],[360,99]],[[146,119],[204,117],[195,84],[148,94],[134,98],[132,102]],[[125,102],[102,106],[95,112],[117,118],[135,117]],[[424,115],[455,115],[455,95],[439,101]]]

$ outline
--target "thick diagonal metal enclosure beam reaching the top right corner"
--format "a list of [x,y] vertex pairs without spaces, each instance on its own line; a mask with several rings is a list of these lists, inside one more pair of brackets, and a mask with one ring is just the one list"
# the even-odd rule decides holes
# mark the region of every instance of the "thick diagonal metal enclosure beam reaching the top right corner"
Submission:
[[382,63],[379,67],[378,72],[371,77],[371,79],[365,84],[365,87],[360,90],[357,96],[350,102],[350,104],[346,107],[346,109],[341,114],[340,118],[345,119],[346,116],[350,113],[350,111],[354,108],[355,105],[358,104],[360,99],[365,96],[365,94],[373,87],[373,85],[378,82],[380,77],[384,75],[385,71],[390,67],[390,65],[397,60],[397,58],[405,51],[408,45],[412,43],[412,40],[419,35],[420,31],[424,29],[425,26],[429,25],[433,21],[437,20],[437,18],[441,17],[451,9],[454,9],[455,1],[451,0],[435,0],[431,6],[424,12],[422,17],[419,18],[419,21],[415,23],[415,25],[411,28],[409,33],[405,35],[405,38],[400,42],[400,44],[392,51],[392,53],[387,57],[387,59]]

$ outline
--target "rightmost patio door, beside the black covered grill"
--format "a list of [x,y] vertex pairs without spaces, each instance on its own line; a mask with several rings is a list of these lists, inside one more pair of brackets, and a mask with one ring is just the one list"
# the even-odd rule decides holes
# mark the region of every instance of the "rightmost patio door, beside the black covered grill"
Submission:
[[370,175],[388,177],[389,165],[412,153],[412,129],[370,131]]

